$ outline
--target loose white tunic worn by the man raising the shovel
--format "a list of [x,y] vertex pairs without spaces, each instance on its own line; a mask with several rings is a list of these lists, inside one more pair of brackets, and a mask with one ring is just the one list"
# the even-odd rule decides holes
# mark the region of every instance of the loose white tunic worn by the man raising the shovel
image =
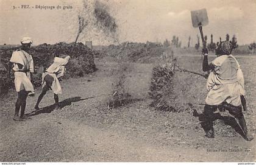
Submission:
[[244,88],[238,81],[239,65],[231,55],[221,55],[212,61],[215,66],[207,79],[208,94],[205,103],[219,105],[227,102],[235,106],[241,105],[240,94]]

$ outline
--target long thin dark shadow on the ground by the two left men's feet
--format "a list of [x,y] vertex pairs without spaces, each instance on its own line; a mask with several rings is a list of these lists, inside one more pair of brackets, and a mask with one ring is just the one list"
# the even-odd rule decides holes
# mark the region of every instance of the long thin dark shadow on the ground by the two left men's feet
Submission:
[[[93,97],[87,97],[85,99],[81,99],[81,97],[71,97],[68,99],[63,100],[62,102],[59,102],[59,108],[66,107],[68,105],[71,105],[73,102],[79,102],[82,100],[92,99]],[[47,107],[40,108],[39,110],[32,111],[31,113],[26,114],[27,116],[35,116],[37,114],[41,113],[51,113],[55,109],[55,104],[49,105]]]

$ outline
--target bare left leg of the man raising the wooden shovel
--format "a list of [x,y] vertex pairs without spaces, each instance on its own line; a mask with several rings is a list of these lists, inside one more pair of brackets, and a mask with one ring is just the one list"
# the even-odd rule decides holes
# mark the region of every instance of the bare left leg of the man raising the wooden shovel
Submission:
[[205,105],[204,107],[204,121],[201,122],[201,125],[204,128],[207,138],[214,138],[213,112],[216,111],[216,108],[215,105]]

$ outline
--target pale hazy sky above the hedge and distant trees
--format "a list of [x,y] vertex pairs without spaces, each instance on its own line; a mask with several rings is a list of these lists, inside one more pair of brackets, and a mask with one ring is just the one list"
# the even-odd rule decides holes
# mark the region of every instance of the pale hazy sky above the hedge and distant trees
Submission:
[[[80,0],[82,1],[82,0]],[[15,9],[13,5],[73,5],[73,15],[80,10],[79,1],[68,0],[0,0],[0,44],[19,44],[20,38],[30,36],[35,44],[74,41],[77,29],[67,10]],[[209,24],[204,27],[205,35],[213,34],[213,40],[226,38],[226,33],[238,38],[238,44],[256,41],[256,0],[105,0],[118,23],[119,40],[163,41],[176,35],[187,45],[191,36],[196,43],[198,29],[191,23],[191,10],[207,9]],[[70,11],[70,10],[69,10]],[[64,15],[64,16],[63,16]],[[63,22],[67,22],[65,24]],[[73,26],[71,26],[73,25]],[[72,27],[72,28],[71,28]],[[91,32],[93,33],[93,32]],[[89,36],[89,35],[88,35]],[[80,41],[93,40],[101,44],[99,36]],[[210,41],[210,40],[209,40]]]

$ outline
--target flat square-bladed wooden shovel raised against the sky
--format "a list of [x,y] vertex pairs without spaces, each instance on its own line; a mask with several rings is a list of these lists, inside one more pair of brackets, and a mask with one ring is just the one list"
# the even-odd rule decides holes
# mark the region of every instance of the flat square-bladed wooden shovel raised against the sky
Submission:
[[209,23],[206,9],[191,11],[191,19],[192,19],[193,27],[199,27],[203,47],[205,49],[206,41],[204,40],[204,33],[202,32],[202,26],[206,26]]

